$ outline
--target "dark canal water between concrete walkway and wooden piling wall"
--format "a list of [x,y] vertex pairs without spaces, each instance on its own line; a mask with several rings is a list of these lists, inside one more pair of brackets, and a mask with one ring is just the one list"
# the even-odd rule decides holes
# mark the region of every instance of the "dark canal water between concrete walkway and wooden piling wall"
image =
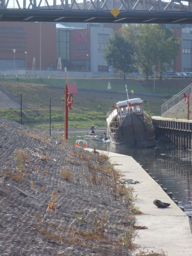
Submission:
[[[88,132],[87,132],[88,133]],[[97,131],[102,134],[103,131]],[[69,143],[74,145],[76,140],[86,140],[88,148],[103,151],[110,151],[118,154],[128,155],[143,165],[143,169],[148,169],[149,173],[159,180],[167,192],[173,193],[173,200],[178,201],[179,206],[183,206],[185,213],[192,214],[192,151],[180,150],[173,146],[155,148],[115,148],[111,142],[100,142],[84,137],[84,132],[70,132]],[[58,137],[52,134],[52,137]],[[62,136],[63,134],[61,134]],[[80,143],[80,146],[82,143]],[[155,198],[154,198],[155,199]],[[160,198],[157,198],[160,199]]]

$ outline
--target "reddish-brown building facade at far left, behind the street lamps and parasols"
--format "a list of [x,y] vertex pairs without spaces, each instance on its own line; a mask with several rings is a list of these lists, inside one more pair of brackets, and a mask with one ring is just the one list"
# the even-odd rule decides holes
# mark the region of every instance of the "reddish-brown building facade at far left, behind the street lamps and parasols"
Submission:
[[[40,33],[41,31],[41,33]],[[15,49],[15,61],[14,52]],[[1,22],[1,70],[56,68],[56,29],[53,23]]]

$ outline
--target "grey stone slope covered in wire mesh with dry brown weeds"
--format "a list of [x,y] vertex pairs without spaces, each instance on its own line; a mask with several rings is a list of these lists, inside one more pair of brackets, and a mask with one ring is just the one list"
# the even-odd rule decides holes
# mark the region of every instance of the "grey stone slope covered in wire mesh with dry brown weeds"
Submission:
[[134,216],[106,166],[0,117],[0,255],[127,255]]

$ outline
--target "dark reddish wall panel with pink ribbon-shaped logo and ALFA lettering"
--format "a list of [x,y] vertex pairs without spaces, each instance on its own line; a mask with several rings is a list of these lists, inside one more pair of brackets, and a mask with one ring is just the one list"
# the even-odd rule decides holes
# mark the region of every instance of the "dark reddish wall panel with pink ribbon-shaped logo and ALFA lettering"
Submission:
[[83,60],[90,58],[90,29],[71,31],[71,59]]

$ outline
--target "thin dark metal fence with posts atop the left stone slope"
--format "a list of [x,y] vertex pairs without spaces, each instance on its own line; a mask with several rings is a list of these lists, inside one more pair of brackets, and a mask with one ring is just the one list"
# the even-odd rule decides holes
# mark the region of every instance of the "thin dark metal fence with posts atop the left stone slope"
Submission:
[[36,102],[12,96],[0,87],[0,116],[14,120],[33,129],[45,131],[51,136],[51,100]]

